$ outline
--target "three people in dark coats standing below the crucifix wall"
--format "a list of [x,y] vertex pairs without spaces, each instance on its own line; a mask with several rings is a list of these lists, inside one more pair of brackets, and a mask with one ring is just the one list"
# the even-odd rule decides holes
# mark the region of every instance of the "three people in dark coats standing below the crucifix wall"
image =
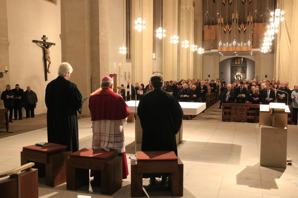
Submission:
[[27,86],[27,90],[24,91],[20,88],[19,84],[15,85],[14,89],[11,89],[10,85],[6,85],[5,91],[1,94],[1,100],[3,100],[4,108],[9,111],[9,122],[13,122],[18,118],[22,120],[22,108],[26,110],[26,118],[34,118],[34,109],[36,108],[37,95],[31,90],[30,86]]

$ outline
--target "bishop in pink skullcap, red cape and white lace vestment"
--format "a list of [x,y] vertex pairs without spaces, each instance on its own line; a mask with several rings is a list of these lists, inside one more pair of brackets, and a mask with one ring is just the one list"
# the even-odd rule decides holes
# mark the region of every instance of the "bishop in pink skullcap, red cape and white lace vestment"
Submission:
[[[89,99],[93,132],[92,148],[105,151],[116,150],[118,156],[122,157],[122,179],[126,179],[128,166],[123,123],[129,115],[128,105],[119,94],[113,92],[111,77],[103,77],[100,87],[102,90],[90,96]],[[90,176],[93,177],[93,172]]]

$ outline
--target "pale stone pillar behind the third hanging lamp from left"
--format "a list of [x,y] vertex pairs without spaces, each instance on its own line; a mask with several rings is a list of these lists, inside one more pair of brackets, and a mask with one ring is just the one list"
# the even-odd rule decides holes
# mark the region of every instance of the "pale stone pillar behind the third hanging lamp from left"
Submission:
[[[178,0],[163,1],[163,28],[166,37],[163,39],[162,74],[164,80],[177,79],[177,45],[171,43],[171,37],[178,37]],[[179,42],[181,42],[179,38]]]

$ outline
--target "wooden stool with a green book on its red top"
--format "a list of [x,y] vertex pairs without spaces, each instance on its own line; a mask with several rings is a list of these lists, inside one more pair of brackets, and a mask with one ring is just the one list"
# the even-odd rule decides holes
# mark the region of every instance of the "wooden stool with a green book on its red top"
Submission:
[[49,146],[25,146],[21,151],[21,165],[34,162],[38,177],[46,176],[46,186],[55,187],[66,182],[68,146],[50,143]]

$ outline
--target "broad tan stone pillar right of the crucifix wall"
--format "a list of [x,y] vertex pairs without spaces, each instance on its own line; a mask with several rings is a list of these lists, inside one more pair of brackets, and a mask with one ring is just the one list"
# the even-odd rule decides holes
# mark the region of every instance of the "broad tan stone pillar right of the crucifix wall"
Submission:
[[[72,65],[70,80],[83,97],[91,93],[92,75],[97,89],[100,79],[109,74],[107,7],[108,0],[61,1],[62,62]],[[82,115],[90,115],[88,100]]]

